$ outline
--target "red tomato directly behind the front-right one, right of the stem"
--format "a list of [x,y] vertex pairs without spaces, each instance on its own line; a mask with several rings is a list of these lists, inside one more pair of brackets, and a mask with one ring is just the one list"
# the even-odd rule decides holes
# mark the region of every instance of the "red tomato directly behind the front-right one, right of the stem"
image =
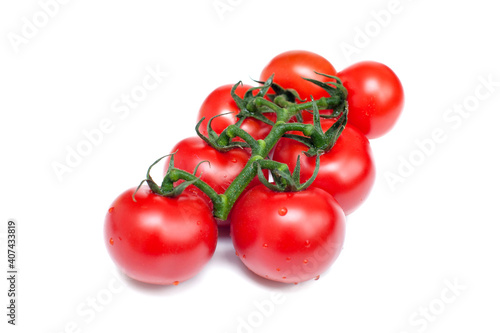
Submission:
[[[334,120],[322,119],[323,130]],[[292,139],[282,138],[276,145],[273,159],[294,170],[300,155],[301,181],[309,179],[316,167],[316,158],[303,154],[307,147]],[[320,170],[314,186],[330,193],[346,215],[354,212],[368,197],[375,182],[375,163],[369,140],[354,126],[347,124],[333,148],[321,155]]]

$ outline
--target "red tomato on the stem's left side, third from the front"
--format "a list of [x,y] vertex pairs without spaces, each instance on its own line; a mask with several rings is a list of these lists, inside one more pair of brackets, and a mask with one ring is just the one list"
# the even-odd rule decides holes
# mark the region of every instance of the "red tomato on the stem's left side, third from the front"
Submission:
[[[234,102],[231,97],[231,89],[233,85],[224,85],[207,96],[201,108],[198,112],[197,122],[201,120],[201,118],[205,117],[205,120],[200,125],[200,133],[208,136],[207,124],[210,118],[223,114],[232,112],[231,114],[226,114],[224,116],[220,116],[215,118],[212,121],[212,129],[217,133],[222,133],[223,130],[226,129],[229,125],[232,125],[238,121],[236,115],[240,111],[238,105]],[[238,86],[236,88],[236,94],[243,98],[243,95],[247,92],[248,89],[252,88],[249,85]],[[275,115],[269,115],[270,119],[276,118]],[[241,125],[241,128],[247,131],[254,139],[264,139],[267,134],[271,131],[272,126],[263,123],[260,120],[254,118],[247,118]],[[236,141],[242,141],[239,138],[235,139]]]

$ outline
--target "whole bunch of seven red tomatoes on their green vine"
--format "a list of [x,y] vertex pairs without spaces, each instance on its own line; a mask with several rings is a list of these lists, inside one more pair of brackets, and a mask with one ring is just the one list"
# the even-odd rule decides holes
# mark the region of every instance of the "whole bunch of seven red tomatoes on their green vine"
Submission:
[[[213,256],[219,228],[230,228],[235,254],[269,280],[318,279],[339,256],[345,217],[375,180],[369,140],[403,109],[401,82],[381,63],[337,72],[318,54],[289,51],[256,83],[210,93],[197,135],[111,204],[106,246],[129,277],[173,285],[193,277]],[[157,184],[150,170],[160,162]]]

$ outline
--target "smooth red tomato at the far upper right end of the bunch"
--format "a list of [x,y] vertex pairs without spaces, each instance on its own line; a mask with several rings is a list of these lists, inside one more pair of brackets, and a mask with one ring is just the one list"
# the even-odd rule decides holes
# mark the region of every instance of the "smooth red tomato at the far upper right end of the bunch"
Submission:
[[338,73],[346,87],[349,123],[369,139],[389,132],[404,106],[401,81],[386,65],[363,61]]

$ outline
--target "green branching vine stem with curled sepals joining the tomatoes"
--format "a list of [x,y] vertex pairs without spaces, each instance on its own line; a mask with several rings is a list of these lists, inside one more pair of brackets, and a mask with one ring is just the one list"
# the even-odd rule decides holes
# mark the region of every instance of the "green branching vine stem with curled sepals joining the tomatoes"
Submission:
[[[301,103],[298,100],[298,96],[296,96],[293,91],[285,90],[274,83],[273,76],[271,76],[266,82],[263,82],[262,86],[249,89],[245,93],[245,96],[241,98],[235,93],[236,88],[241,84],[241,82],[238,82],[233,86],[231,91],[233,99],[240,108],[240,112],[237,115],[239,118],[238,122],[229,125],[220,135],[217,135],[211,128],[212,120],[217,117],[215,116],[208,122],[208,136],[201,134],[199,131],[199,127],[204,118],[198,122],[196,126],[197,134],[214,149],[221,152],[242,148],[249,148],[251,150],[251,156],[246,166],[224,193],[218,194],[210,185],[199,177],[196,177],[196,169],[195,172],[189,173],[176,168],[174,163],[175,153],[170,159],[169,167],[161,186],[157,185],[150,176],[151,167],[158,163],[159,160],[150,166],[145,181],[154,193],[163,196],[178,195],[189,185],[198,187],[212,200],[214,207],[213,215],[220,220],[226,220],[228,218],[236,200],[252,179],[258,176],[259,170],[261,169],[269,169],[269,171],[280,180],[280,184],[274,187],[276,190],[304,190],[312,183],[314,178],[306,182],[306,186],[304,186],[304,184],[300,185],[294,183],[292,179],[297,178],[297,176],[295,178],[291,177],[288,166],[283,163],[270,161],[268,156],[282,137],[292,138],[306,144],[309,148],[306,152],[307,156],[319,156],[333,147],[335,141],[345,128],[348,114],[346,102],[347,90],[344,88],[339,78],[327,74],[317,74],[327,77],[330,81],[321,82],[313,79],[305,80],[323,88],[329,94],[329,97],[321,97],[317,101],[311,100]],[[273,88],[273,91],[278,93],[269,98],[267,92],[270,88]],[[254,91],[257,91],[257,94],[254,94]],[[292,118],[297,116],[300,119],[300,112],[304,110],[312,110],[314,119],[313,124],[290,122]],[[331,113],[329,115],[320,115],[319,110],[331,110]],[[266,113],[275,113],[276,121],[272,122],[266,118]],[[268,125],[272,124],[271,131],[264,139],[257,140],[240,127],[243,121],[248,117],[260,120]],[[329,129],[323,131],[320,124],[321,117],[337,117],[338,120],[334,122]],[[287,134],[289,132],[301,132],[303,136]],[[234,141],[236,138],[242,139],[243,142]],[[319,163],[319,159],[317,163]],[[263,177],[261,177],[261,179],[263,179]],[[174,183],[179,180],[184,180],[185,182],[181,185],[174,186]]]

